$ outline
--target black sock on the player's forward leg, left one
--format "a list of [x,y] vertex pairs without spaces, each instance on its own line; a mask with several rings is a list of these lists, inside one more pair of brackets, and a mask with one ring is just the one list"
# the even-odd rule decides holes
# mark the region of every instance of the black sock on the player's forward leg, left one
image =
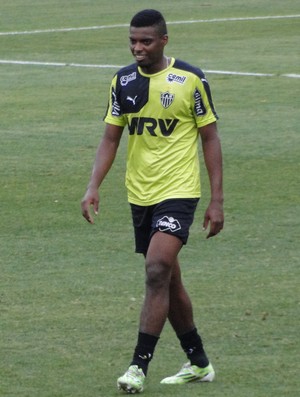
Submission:
[[147,375],[148,365],[153,357],[159,337],[139,332],[138,342],[130,365],[137,365]]

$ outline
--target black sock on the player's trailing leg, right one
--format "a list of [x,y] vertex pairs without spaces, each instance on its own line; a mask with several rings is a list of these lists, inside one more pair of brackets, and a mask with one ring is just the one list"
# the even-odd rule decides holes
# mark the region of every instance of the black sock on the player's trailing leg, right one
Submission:
[[202,340],[197,332],[197,328],[183,335],[178,335],[181,347],[185,351],[187,358],[192,365],[205,368],[209,361],[203,348]]

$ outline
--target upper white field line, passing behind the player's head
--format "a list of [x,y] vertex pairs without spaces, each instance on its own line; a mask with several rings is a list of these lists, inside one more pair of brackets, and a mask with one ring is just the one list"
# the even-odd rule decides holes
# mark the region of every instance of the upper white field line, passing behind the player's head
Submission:
[[[193,23],[216,23],[216,22],[239,22],[239,21],[261,21],[270,19],[290,19],[300,18],[300,14],[295,15],[266,15],[261,17],[241,17],[241,18],[215,18],[215,19],[194,19],[186,21],[170,21],[168,25],[187,25]],[[15,36],[25,34],[39,34],[39,33],[59,33],[59,32],[73,32],[81,30],[99,30],[99,29],[115,29],[128,27],[129,24],[116,24],[116,25],[99,25],[99,26],[85,26],[77,28],[57,28],[57,29],[38,29],[38,30],[25,30],[15,32],[0,32],[0,36]]]

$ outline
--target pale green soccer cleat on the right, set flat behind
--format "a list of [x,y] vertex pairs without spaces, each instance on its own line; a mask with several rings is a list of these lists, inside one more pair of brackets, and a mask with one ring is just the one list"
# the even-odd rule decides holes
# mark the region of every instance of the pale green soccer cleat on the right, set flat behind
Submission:
[[181,370],[176,375],[164,378],[160,383],[167,385],[184,385],[188,382],[212,382],[214,378],[215,371],[211,364],[205,368],[200,368],[188,362],[182,366]]

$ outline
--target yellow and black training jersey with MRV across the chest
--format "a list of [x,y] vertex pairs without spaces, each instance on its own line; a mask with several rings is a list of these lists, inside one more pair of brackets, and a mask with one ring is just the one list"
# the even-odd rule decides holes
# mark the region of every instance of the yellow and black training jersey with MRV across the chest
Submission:
[[147,75],[136,65],[119,70],[104,121],[128,126],[128,201],[148,206],[200,197],[198,128],[216,121],[203,72],[172,59]]

